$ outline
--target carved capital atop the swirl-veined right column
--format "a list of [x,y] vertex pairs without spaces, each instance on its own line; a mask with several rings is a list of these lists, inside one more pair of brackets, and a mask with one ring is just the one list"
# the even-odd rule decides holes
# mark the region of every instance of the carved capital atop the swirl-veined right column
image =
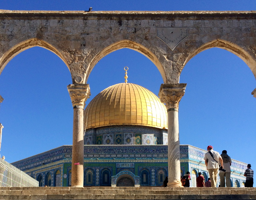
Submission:
[[166,104],[167,112],[169,109],[179,109],[179,102],[185,94],[186,86],[186,83],[161,84],[158,96],[161,102]]

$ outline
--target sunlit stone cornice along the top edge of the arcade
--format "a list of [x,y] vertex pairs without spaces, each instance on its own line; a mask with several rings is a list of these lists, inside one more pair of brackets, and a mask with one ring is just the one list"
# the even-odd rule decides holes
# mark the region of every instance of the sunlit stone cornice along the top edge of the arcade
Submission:
[[[12,10],[0,10],[0,17],[3,16],[4,18],[9,16],[20,16],[20,17],[27,17],[27,16],[34,16],[45,18],[45,14],[54,17],[54,16],[61,16],[61,17],[111,17],[116,16],[134,16],[135,18],[139,19],[140,17],[151,18],[154,17],[161,17],[166,18],[166,15],[169,17],[189,17],[190,19],[198,17],[208,17],[208,18],[216,18],[216,17],[241,17],[246,16],[246,18],[252,18],[256,16],[256,11],[12,11]],[[32,17],[31,17],[32,18]],[[34,19],[33,18],[33,19]]]

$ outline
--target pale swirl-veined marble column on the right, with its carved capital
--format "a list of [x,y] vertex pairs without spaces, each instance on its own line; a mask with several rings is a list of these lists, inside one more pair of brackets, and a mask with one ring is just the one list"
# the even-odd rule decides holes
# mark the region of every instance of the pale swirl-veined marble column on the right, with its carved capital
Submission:
[[168,114],[168,186],[182,187],[179,139],[179,102],[185,94],[186,83],[161,84],[161,102],[166,104]]

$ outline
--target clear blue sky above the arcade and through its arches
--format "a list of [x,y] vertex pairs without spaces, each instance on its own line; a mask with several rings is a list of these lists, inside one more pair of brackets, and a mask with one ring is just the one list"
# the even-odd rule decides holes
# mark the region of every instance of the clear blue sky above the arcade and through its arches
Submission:
[[[2,0],[5,10],[256,10],[255,0],[243,1],[66,1]],[[139,84],[158,95],[163,80],[144,55],[121,49],[105,56],[88,82],[93,99],[104,88],[124,82]],[[72,144],[73,108],[67,91],[71,84],[67,66],[54,53],[34,47],[15,56],[0,75],[3,124],[1,156],[14,162],[61,145]],[[193,57],[181,73],[187,83],[180,102],[180,142],[206,149],[227,150],[231,159],[251,163],[256,140],[255,78],[236,55],[218,48]]]

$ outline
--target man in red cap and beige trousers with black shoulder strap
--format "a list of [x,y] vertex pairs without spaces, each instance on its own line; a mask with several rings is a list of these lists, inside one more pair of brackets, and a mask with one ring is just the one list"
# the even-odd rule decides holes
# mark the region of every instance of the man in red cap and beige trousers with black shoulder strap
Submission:
[[207,153],[204,155],[205,165],[209,172],[212,187],[217,186],[217,175],[219,167],[223,167],[223,160],[217,151],[213,151],[212,146],[207,147]]

